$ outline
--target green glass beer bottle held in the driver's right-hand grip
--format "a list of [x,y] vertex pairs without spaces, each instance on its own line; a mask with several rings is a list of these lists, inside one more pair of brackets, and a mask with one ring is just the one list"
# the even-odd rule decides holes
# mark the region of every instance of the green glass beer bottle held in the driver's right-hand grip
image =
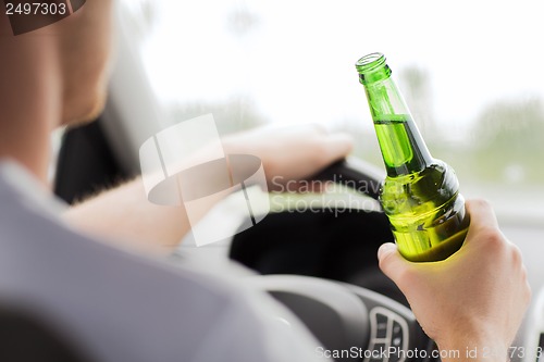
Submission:
[[410,261],[448,258],[469,225],[454,170],[433,159],[381,53],[356,63],[387,176],[380,202],[400,253]]

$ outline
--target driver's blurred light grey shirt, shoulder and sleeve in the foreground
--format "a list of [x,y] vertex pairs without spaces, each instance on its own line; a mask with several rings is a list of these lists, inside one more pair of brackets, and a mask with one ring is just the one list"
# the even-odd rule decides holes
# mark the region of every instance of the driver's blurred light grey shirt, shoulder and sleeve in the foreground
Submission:
[[285,329],[279,307],[244,282],[111,247],[8,184],[0,177],[0,295],[47,315],[96,360],[288,361],[309,351],[306,333]]

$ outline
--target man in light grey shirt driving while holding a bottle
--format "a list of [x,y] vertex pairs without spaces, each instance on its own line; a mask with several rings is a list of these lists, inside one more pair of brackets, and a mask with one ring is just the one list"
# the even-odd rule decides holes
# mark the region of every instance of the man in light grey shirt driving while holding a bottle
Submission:
[[[268,317],[280,307],[267,296],[113,246],[168,251],[188,229],[183,210],[147,202],[140,180],[67,211],[52,199],[46,186],[50,132],[92,120],[102,109],[111,1],[87,1],[67,18],[21,36],[13,36],[4,14],[2,9],[2,299],[35,307],[97,361],[314,359],[317,342],[304,328]],[[238,135],[225,148],[259,155],[270,178],[288,180],[345,157],[350,142],[345,135],[310,127]],[[502,236],[490,207],[469,202],[468,212],[466,246],[447,261],[413,264],[394,246],[384,246],[380,263],[441,348],[489,346],[503,353],[521,321],[529,287],[520,253]],[[503,313],[509,320],[494,322]]]

